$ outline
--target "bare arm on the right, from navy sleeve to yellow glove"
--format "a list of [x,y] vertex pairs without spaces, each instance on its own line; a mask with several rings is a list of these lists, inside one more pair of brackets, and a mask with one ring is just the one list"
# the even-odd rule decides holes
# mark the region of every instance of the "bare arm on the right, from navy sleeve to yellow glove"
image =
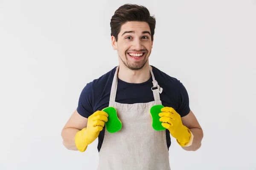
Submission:
[[198,150],[201,147],[201,141],[204,137],[204,133],[194,113],[190,111],[188,115],[181,117],[181,120],[183,125],[188,127],[194,136],[192,145],[190,145],[189,147],[182,147],[182,148],[187,151]]

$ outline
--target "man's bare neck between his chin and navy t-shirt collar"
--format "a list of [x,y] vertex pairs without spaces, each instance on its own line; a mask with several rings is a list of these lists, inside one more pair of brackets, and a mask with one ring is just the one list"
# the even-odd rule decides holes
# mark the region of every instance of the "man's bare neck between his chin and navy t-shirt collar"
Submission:
[[145,64],[140,70],[131,70],[125,65],[119,65],[117,77],[128,83],[143,83],[150,79],[150,65]]

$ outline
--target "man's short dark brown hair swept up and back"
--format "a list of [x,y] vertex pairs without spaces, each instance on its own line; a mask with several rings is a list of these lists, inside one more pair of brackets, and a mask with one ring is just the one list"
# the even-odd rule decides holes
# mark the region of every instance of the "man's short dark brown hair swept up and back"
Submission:
[[150,16],[148,9],[145,6],[135,4],[125,4],[120,6],[111,18],[111,36],[114,36],[117,41],[117,36],[121,26],[128,21],[144,21],[147,22],[151,31],[151,40],[153,41],[154,29],[156,20],[154,16]]

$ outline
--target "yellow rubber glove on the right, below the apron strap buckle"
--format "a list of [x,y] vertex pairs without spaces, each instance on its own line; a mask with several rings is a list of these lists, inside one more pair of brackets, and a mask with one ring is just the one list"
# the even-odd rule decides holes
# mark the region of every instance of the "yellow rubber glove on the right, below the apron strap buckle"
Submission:
[[182,124],[180,114],[170,107],[164,107],[161,111],[158,115],[160,122],[163,122],[162,126],[170,131],[180,146],[191,145],[193,135],[189,128]]

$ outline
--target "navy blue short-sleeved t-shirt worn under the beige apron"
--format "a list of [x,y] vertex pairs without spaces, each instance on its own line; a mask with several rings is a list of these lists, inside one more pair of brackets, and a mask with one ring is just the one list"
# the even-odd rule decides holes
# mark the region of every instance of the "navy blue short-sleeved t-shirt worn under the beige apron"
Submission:
[[[77,107],[77,112],[81,116],[88,118],[94,112],[108,107],[115,71],[116,67],[85,85],[81,91]],[[162,105],[174,108],[181,117],[186,116],[190,111],[189,96],[183,84],[154,66],[152,66],[152,72],[158,85],[163,88],[163,92],[160,94]],[[118,79],[116,102],[134,104],[154,101],[153,92],[151,91],[152,81],[152,77],[143,83],[128,83]],[[99,133],[98,151],[102,146],[104,134],[105,126]],[[171,145],[169,130],[166,130],[166,141],[169,149]]]

